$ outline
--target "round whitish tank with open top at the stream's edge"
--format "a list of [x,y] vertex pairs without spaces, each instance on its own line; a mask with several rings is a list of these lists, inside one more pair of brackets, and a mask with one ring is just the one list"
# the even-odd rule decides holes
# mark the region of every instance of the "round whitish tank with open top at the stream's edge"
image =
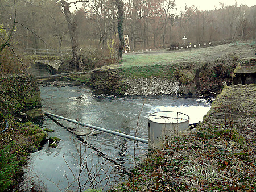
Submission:
[[189,116],[181,112],[160,111],[148,116],[148,149],[161,149],[166,137],[188,130]]

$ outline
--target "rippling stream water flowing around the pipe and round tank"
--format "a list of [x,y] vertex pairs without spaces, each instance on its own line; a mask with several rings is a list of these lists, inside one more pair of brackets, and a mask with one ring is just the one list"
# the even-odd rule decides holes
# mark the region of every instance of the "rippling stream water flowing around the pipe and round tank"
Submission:
[[[137,137],[146,140],[148,136],[147,117],[153,112],[183,112],[190,117],[190,123],[196,123],[202,120],[210,110],[209,102],[196,98],[117,97],[94,94],[90,89],[82,86],[41,86],[40,91],[44,111],[127,135],[135,136],[137,127]],[[141,115],[139,115],[140,111]],[[121,171],[113,169],[111,164],[108,164],[109,158],[127,169],[133,167],[134,141],[109,133],[82,136],[82,139],[90,144],[90,148],[88,148],[77,140],[75,135],[67,131],[66,128],[77,127],[76,124],[60,119],[56,120],[59,123],[44,116],[40,119],[39,125],[42,128],[55,130],[55,132],[49,133],[49,136],[61,139],[58,146],[51,148],[46,144],[40,151],[32,153],[25,169],[27,171],[25,176],[30,180],[42,181],[48,191],[59,191],[67,186],[72,186],[71,189],[76,190],[79,182],[72,183],[72,181],[74,181],[74,176],[76,178],[79,176],[77,170],[81,168],[81,162],[87,163],[87,166],[81,168],[79,180],[80,185],[86,184],[84,185],[85,189],[104,187],[108,183],[113,184],[118,181],[118,178],[114,176],[119,176],[117,172]],[[77,149],[80,150],[80,146],[79,153]],[[98,152],[91,149],[92,147],[96,148]],[[105,155],[100,155],[101,152]],[[80,157],[82,158],[79,158],[81,153]],[[137,143],[135,157],[139,159],[139,155],[143,153],[147,153],[147,144]],[[90,177],[88,177],[88,173]],[[97,176],[92,185],[92,178],[95,174],[101,175]],[[101,180],[104,181],[100,182]]]

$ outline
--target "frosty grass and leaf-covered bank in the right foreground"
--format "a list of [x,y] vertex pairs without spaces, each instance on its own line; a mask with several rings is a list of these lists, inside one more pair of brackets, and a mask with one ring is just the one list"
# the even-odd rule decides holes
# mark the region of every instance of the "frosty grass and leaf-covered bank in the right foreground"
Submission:
[[199,130],[168,137],[109,191],[255,191],[255,89],[225,87]]

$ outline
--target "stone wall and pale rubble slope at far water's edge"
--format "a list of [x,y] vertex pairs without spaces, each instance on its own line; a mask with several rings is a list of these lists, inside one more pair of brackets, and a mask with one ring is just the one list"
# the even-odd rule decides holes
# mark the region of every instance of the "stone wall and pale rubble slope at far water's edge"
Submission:
[[90,85],[94,89],[121,95],[177,94],[179,85],[170,80],[152,78],[125,78],[118,69],[105,68],[91,73]]

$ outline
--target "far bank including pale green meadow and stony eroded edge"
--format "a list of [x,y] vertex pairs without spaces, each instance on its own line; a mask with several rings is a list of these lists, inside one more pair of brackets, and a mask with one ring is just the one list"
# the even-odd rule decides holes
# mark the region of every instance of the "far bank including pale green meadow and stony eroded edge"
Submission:
[[96,91],[120,95],[217,95],[223,85],[232,85],[238,65],[255,60],[254,52],[250,43],[244,43],[191,51],[130,53],[123,56],[122,64],[40,78],[65,76]]

